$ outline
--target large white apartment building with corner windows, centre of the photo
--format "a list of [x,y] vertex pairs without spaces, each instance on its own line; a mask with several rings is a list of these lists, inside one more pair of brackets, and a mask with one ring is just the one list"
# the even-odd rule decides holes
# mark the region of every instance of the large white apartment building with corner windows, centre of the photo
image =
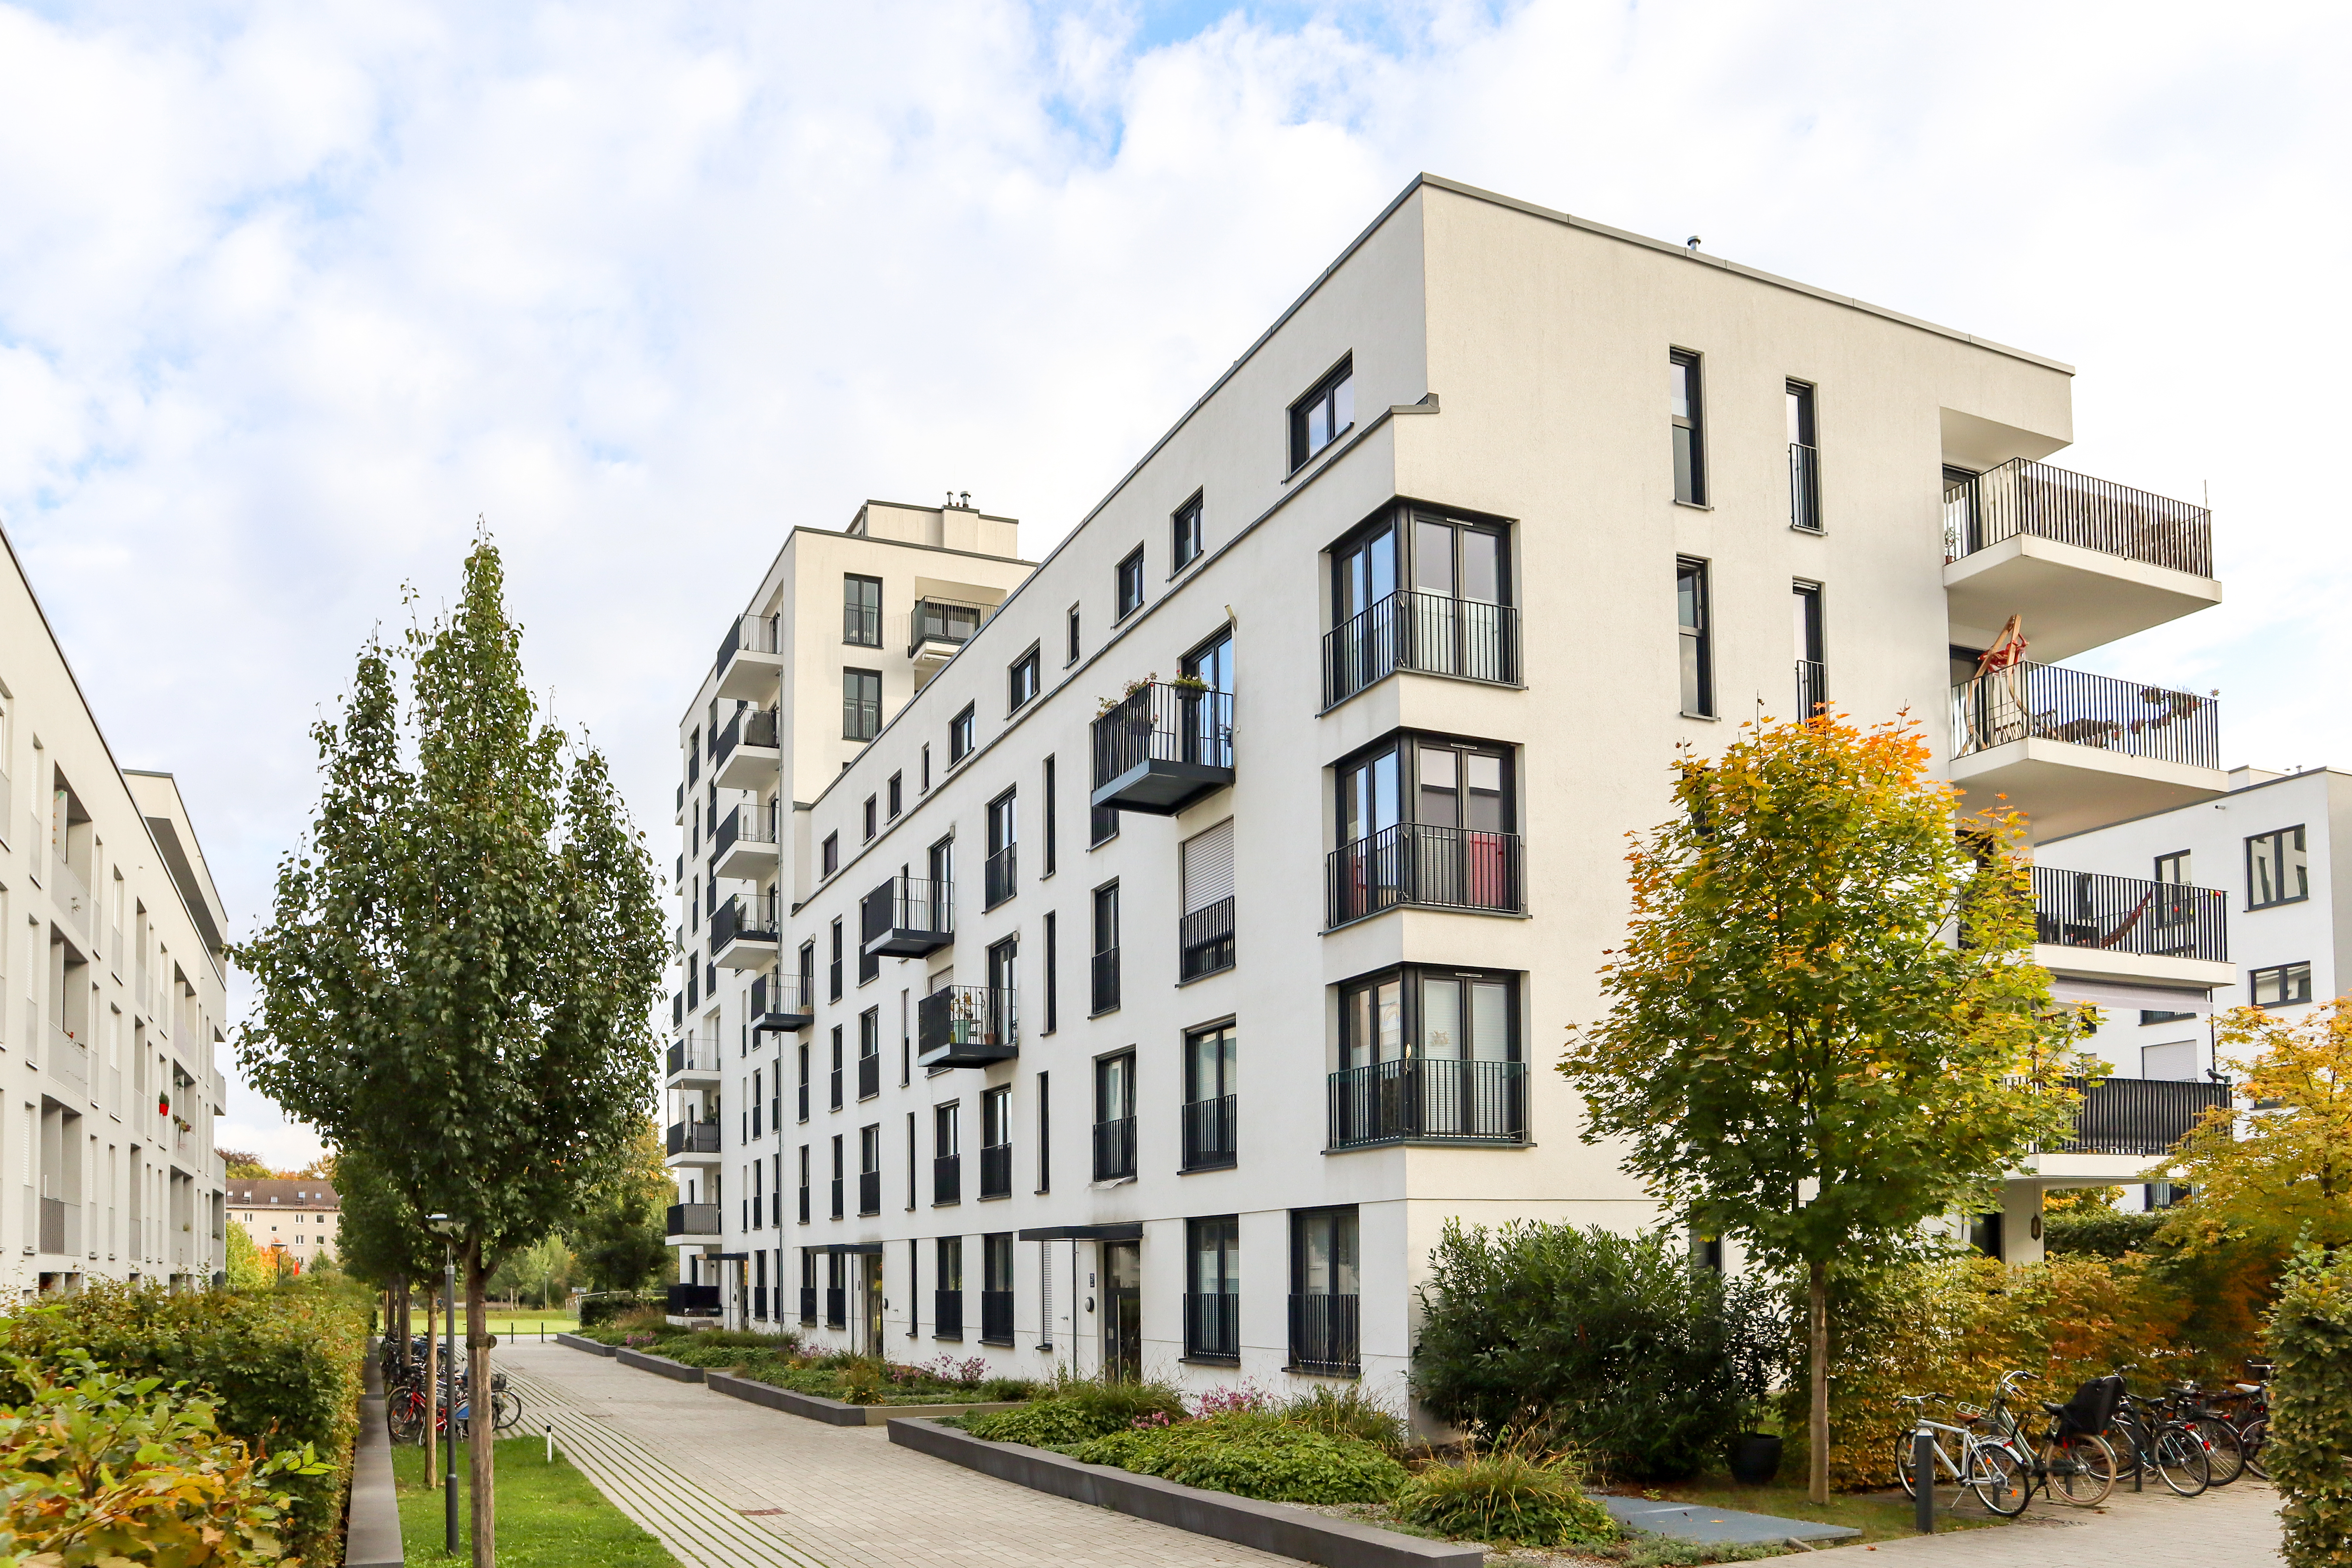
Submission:
[[[1651,1222],[1550,1065],[1677,745],[1830,701],[2044,832],[2225,790],[2204,696],[1980,672],[2220,595],[2204,510],[2042,461],[2070,376],[1423,176],[1042,562],[795,527],[677,731],[673,1309],[1395,1392],[1446,1220]],[[2131,947],[2067,973],[2225,973]]]

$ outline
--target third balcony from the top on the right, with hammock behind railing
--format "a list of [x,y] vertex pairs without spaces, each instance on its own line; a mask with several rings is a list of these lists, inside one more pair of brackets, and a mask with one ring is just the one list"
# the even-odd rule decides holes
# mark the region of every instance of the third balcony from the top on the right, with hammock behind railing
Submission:
[[2220,987],[2230,898],[2218,889],[2034,867],[2034,961],[2093,980]]

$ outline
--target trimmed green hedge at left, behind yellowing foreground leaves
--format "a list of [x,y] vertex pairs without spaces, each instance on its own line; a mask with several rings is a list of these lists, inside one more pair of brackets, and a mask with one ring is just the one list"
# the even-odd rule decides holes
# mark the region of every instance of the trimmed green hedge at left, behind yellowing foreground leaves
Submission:
[[306,1563],[341,1561],[343,1493],[360,1432],[369,1291],[318,1274],[263,1291],[167,1291],[101,1284],[0,1319],[0,1352],[61,1363],[87,1349],[132,1378],[193,1382],[219,1399],[221,1432],[256,1450],[310,1443],[327,1469],[287,1476],[285,1547]]

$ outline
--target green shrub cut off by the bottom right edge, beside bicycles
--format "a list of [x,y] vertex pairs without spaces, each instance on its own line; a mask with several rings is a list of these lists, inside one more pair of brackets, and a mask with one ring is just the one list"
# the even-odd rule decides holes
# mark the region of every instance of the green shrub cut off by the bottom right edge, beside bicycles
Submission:
[[2291,1568],[2352,1561],[2352,1253],[2310,1251],[2270,1316],[2270,1441]]

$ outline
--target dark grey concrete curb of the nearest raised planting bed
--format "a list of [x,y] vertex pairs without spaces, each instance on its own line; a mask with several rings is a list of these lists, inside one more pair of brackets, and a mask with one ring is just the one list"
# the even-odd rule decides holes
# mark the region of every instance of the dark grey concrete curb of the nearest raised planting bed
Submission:
[[985,1443],[934,1420],[896,1418],[889,1422],[889,1441],[1014,1486],[1327,1568],[1482,1568],[1486,1561],[1486,1549],[1475,1542],[1397,1535],[1279,1502],[1176,1486],[1110,1465],[1080,1465],[1070,1455],[1025,1443]]

